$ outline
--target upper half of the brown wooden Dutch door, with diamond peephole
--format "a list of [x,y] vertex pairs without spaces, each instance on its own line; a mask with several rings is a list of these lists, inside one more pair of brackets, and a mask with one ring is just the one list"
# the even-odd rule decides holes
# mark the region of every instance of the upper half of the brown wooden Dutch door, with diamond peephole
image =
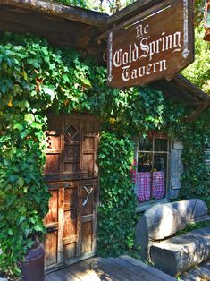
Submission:
[[44,171],[47,181],[50,175],[54,180],[58,174],[97,177],[98,133],[99,121],[91,115],[50,115]]

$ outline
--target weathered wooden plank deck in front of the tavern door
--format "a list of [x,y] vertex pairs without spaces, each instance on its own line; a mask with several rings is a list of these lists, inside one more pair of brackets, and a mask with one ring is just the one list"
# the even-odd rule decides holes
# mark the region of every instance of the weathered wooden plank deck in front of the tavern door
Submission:
[[45,281],[175,281],[156,268],[130,256],[90,258],[49,273]]

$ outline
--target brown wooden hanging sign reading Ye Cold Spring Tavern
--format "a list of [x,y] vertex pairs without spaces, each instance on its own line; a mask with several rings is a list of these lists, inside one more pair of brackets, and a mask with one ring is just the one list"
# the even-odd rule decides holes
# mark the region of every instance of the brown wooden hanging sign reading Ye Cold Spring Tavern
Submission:
[[162,1],[109,31],[107,85],[171,80],[193,60],[192,0]]

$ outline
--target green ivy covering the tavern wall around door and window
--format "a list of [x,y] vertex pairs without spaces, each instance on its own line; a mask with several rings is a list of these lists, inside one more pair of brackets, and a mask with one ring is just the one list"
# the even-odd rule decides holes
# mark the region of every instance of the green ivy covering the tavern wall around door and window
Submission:
[[101,117],[98,254],[133,251],[134,135],[161,130],[180,138],[185,169],[181,198],[209,196],[204,165],[209,111],[186,123],[191,109],[166,100],[162,92],[107,88],[103,67],[28,35],[6,33],[0,38],[0,77],[0,268],[7,275],[20,274],[18,261],[34,236],[45,234],[42,219],[49,194],[42,168],[49,112]]

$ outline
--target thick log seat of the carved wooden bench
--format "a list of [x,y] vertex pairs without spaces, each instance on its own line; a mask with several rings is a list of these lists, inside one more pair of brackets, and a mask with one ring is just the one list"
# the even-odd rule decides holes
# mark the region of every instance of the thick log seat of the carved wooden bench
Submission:
[[176,277],[210,258],[210,227],[155,243],[150,257],[155,268]]

